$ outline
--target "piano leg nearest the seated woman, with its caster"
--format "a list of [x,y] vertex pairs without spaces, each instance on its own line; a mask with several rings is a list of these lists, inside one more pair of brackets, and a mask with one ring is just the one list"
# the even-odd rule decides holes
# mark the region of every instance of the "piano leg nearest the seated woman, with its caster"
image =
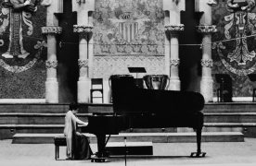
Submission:
[[97,152],[96,157],[91,159],[92,162],[105,162],[106,161],[106,150],[105,150],[105,141],[106,135],[105,134],[98,134],[96,135],[97,139]]

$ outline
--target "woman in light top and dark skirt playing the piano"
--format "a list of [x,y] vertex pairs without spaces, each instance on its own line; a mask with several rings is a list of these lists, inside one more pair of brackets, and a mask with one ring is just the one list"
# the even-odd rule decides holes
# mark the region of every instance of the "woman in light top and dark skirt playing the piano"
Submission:
[[70,109],[65,116],[64,135],[67,141],[67,160],[85,160],[90,159],[92,150],[89,140],[86,136],[76,131],[77,124],[87,125],[87,123],[78,119],[75,114],[78,113],[78,105],[71,103]]

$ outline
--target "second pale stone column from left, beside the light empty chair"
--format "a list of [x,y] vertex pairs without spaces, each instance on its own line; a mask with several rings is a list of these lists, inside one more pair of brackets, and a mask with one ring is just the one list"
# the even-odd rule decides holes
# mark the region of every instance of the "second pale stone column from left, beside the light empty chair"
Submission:
[[90,101],[91,79],[90,73],[93,59],[93,22],[92,11],[95,10],[94,0],[73,0],[73,11],[77,12],[77,25],[74,25],[74,32],[79,33],[79,80],[77,83],[77,100],[79,103]]

